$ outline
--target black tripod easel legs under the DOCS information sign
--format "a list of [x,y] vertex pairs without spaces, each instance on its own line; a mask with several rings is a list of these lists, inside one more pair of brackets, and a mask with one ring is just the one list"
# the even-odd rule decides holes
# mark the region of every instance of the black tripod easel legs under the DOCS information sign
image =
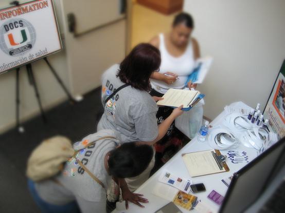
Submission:
[[[10,5],[15,5],[15,6],[19,6],[20,3],[18,1],[13,1],[10,3]],[[58,83],[60,84],[60,86],[63,88],[64,92],[66,93],[66,95],[68,96],[68,99],[70,101],[70,103],[75,103],[77,102],[77,100],[75,100],[73,98],[73,96],[70,94],[70,92],[67,90],[66,86],[63,84],[62,80],[60,79],[60,76],[57,74],[56,70],[50,65],[50,63],[47,60],[47,57],[43,58],[44,61],[46,62],[46,64],[48,65],[49,69],[51,70],[52,74],[54,74],[56,80],[58,81]],[[37,98],[39,107],[40,107],[40,111],[41,111],[41,116],[42,119],[44,121],[44,123],[47,122],[43,107],[42,107],[42,102],[41,102],[41,97],[39,94],[39,90],[38,90],[38,86],[37,86],[37,82],[35,82],[34,79],[34,75],[33,75],[33,70],[32,70],[32,65],[31,63],[25,65],[26,66],[26,70],[27,70],[27,74],[28,74],[28,79],[29,79],[29,83],[30,85],[34,88],[34,93],[35,93],[35,97]],[[25,131],[24,127],[20,125],[20,81],[19,81],[19,75],[20,75],[20,68],[16,68],[16,128],[19,132],[23,133]],[[81,97],[78,98],[78,101],[80,101],[80,99],[82,99]]]

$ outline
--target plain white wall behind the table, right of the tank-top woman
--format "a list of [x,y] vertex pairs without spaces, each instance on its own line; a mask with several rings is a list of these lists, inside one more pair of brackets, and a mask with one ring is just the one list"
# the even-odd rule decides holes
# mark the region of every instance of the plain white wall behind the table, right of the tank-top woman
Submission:
[[204,115],[214,119],[225,105],[266,104],[285,58],[284,0],[185,0],[194,17],[193,36],[213,65],[203,85]]

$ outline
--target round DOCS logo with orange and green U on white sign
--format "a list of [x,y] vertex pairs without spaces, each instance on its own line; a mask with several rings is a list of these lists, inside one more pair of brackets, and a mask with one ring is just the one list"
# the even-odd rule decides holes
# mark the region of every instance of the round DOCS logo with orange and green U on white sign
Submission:
[[36,40],[34,27],[23,18],[11,18],[0,27],[0,49],[20,56],[31,50]]

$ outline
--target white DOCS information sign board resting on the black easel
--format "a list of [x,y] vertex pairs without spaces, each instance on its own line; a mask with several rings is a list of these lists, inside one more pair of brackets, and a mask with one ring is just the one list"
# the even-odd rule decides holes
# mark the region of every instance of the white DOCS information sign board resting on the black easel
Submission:
[[62,50],[52,0],[0,10],[0,74]]

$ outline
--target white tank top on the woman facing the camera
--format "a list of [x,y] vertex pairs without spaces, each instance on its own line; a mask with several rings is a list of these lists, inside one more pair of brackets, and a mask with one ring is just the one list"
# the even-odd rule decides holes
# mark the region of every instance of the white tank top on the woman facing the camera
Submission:
[[179,57],[174,57],[170,55],[166,49],[164,34],[159,34],[159,50],[161,51],[161,67],[159,68],[159,73],[173,72],[178,75],[178,78],[173,84],[167,84],[163,81],[158,81],[151,79],[151,87],[157,92],[166,93],[168,89],[182,89],[185,86],[187,77],[194,69],[194,53],[191,40],[188,46]]

